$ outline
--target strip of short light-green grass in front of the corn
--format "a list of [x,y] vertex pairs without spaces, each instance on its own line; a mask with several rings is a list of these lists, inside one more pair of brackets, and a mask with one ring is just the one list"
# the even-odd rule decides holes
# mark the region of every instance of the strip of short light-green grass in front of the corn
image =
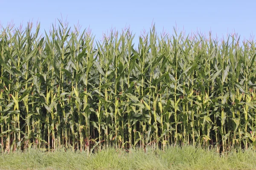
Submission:
[[1,170],[255,170],[253,150],[230,151],[221,156],[198,147],[148,148],[127,153],[113,148],[97,153],[27,150],[0,154]]

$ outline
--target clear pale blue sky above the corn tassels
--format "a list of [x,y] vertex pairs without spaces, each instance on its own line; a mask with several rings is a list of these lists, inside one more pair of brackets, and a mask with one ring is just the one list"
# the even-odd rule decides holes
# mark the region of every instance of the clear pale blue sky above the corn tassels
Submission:
[[70,26],[79,23],[90,28],[96,39],[111,27],[122,30],[130,26],[136,37],[152,21],[157,32],[163,28],[173,33],[173,27],[186,34],[201,30],[226,37],[234,30],[242,39],[256,33],[255,0],[1,0],[0,22],[5,27],[32,20],[40,21],[42,32],[49,30],[57,18],[67,18]]

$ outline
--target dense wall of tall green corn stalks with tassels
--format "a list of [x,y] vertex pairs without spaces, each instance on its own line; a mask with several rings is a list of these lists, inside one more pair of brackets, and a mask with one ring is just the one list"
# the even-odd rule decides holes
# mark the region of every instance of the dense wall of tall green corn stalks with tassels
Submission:
[[0,150],[256,149],[256,44],[230,35],[0,33]]

